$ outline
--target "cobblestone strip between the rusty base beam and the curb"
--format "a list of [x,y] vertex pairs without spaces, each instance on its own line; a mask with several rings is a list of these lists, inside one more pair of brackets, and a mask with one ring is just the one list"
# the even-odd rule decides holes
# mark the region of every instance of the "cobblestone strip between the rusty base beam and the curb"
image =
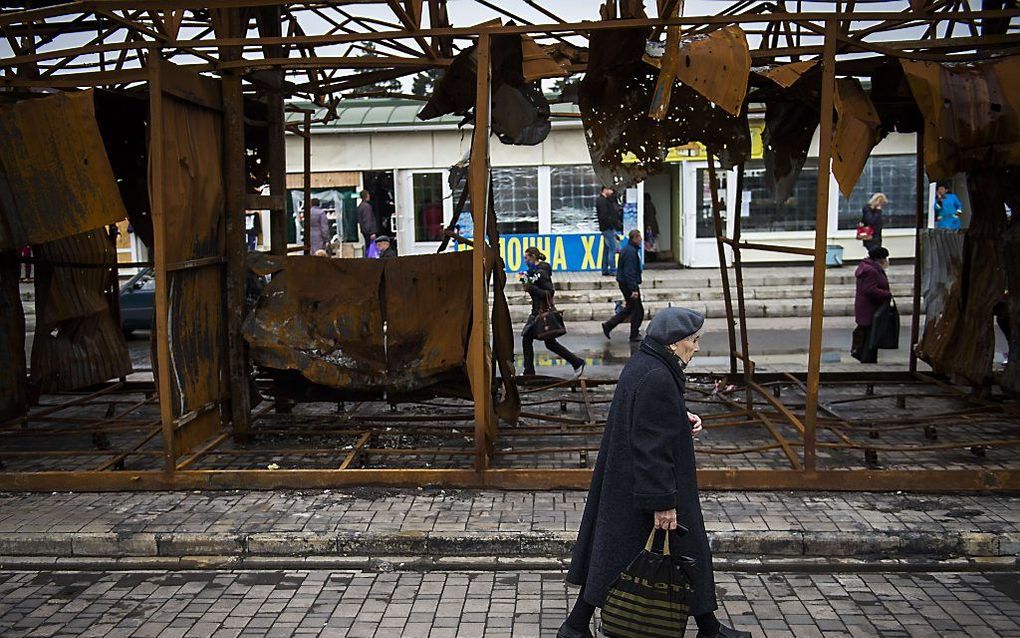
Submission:
[[[0,493],[10,533],[573,532],[584,492]],[[710,531],[1020,532],[1020,496],[706,492]]]

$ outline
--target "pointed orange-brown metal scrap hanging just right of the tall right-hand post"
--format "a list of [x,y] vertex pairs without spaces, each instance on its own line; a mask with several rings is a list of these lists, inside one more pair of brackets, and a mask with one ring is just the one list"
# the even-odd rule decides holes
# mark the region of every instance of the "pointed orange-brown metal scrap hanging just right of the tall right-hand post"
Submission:
[[832,137],[832,175],[839,192],[850,197],[871,149],[882,138],[882,122],[856,78],[835,81],[834,105],[838,119]]

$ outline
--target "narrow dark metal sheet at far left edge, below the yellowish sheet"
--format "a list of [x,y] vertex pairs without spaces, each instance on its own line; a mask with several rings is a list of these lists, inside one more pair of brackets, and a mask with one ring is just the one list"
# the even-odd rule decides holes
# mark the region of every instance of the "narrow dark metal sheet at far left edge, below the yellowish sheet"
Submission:
[[18,267],[13,251],[0,252],[0,421],[29,408]]

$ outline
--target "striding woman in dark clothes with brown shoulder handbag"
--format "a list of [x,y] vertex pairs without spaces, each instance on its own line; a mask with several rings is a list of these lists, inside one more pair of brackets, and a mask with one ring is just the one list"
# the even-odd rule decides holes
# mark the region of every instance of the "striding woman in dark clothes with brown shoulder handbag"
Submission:
[[524,251],[524,263],[527,272],[521,281],[524,290],[531,295],[531,314],[524,323],[521,332],[521,348],[524,350],[524,374],[534,374],[534,340],[546,344],[551,352],[559,354],[574,370],[574,375],[580,377],[584,373],[584,360],[568,350],[556,340],[566,333],[562,315],[556,310],[553,296],[556,287],[553,286],[553,266],[546,261],[546,255],[536,246],[529,246]]

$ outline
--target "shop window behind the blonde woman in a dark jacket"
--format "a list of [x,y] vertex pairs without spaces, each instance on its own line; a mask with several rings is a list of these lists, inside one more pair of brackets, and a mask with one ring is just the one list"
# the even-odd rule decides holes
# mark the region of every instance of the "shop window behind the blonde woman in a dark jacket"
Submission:
[[861,210],[875,193],[885,193],[883,228],[914,228],[917,194],[917,158],[914,155],[874,155],[868,158],[850,199],[839,194],[839,229],[857,228]]

